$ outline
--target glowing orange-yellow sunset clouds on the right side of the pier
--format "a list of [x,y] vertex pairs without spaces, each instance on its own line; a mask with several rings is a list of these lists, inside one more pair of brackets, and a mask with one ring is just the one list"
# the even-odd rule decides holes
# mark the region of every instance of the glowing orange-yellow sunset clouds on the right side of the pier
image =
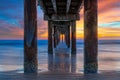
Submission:
[[[120,0],[99,0],[98,1],[98,24],[109,24],[120,21]],[[77,21],[77,38],[84,37],[84,14],[80,12],[81,20]],[[99,26],[98,25],[98,26]],[[113,26],[99,26],[99,39],[120,39],[120,28]]]

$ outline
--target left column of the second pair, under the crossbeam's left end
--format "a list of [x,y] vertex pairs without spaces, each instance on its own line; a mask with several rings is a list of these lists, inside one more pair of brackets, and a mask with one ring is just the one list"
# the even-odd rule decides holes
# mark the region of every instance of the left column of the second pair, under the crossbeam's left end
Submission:
[[48,21],[48,53],[53,54],[52,21]]

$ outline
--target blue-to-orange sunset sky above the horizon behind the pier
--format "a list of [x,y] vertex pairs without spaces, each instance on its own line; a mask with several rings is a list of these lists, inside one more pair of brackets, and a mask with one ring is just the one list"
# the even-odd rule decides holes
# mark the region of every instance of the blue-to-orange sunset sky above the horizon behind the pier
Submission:
[[[43,20],[40,6],[38,13],[38,39],[47,39],[48,24]],[[77,21],[77,39],[84,37],[84,14]],[[0,1],[0,39],[23,39],[24,0]],[[98,37],[99,39],[120,39],[120,0],[98,0]]]

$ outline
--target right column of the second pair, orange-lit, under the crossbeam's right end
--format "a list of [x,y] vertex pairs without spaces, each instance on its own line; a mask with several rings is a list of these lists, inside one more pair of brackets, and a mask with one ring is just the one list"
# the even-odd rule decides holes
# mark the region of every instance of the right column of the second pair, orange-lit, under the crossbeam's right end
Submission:
[[76,21],[71,22],[71,31],[72,31],[72,54],[76,54]]

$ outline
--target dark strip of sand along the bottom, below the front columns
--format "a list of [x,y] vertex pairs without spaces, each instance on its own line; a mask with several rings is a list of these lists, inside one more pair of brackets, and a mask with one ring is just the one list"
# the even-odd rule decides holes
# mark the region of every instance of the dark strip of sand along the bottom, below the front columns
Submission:
[[16,73],[17,71],[9,71],[0,73],[1,80],[119,80],[119,71],[101,71],[99,74],[81,73],[56,73],[41,72],[36,74]]

